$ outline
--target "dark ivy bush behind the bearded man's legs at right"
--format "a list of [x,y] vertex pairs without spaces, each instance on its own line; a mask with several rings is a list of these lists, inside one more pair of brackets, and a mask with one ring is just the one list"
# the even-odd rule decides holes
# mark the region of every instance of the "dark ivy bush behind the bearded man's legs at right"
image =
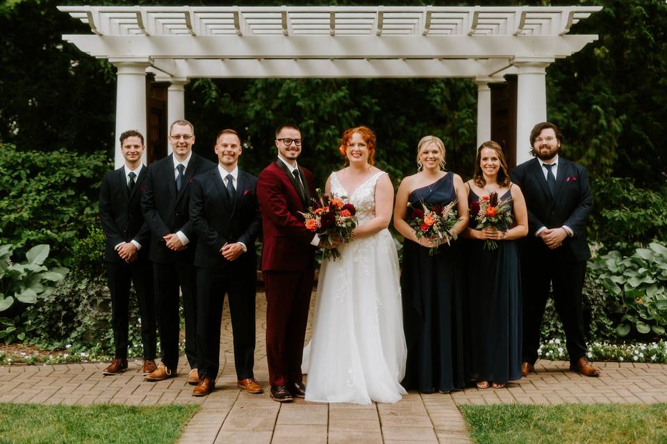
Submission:
[[[614,304],[613,299],[602,284],[595,281],[591,273],[586,274],[582,303],[588,341],[617,340],[614,319],[620,318],[620,314],[617,313],[620,308]],[[541,338],[543,341],[548,341],[564,337],[563,324],[554,307],[554,300],[550,298],[543,316]]]

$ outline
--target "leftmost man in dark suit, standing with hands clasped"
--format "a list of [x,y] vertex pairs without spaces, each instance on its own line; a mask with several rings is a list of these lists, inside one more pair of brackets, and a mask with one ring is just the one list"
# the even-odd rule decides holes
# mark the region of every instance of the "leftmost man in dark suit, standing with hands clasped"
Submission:
[[148,260],[150,231],[141,212],[146,167],[141,163],[144,136],[129,130],[120,135],[125,164],[104,176],[99,189],[99,218],[106,234],[104,262],[111,293],[111,327],[115,357],[102,373],[127,370],[130,284],[134,284],[141,316],[144,375],[156,370],[156,327],[153,273]]

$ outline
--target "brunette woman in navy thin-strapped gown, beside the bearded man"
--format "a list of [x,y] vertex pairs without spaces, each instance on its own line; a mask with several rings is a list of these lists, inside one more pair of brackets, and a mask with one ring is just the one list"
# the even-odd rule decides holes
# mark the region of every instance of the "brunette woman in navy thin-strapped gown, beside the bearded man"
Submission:
[[[463,233],[468,282],[468,379],[478,388],[502,388],[521,378],[521,287],[514,239],[528,233],[528,213],[521,190],[509,180],[500,145],[484,142],[477,148],[475,175],[466,182],[470,225]],[[512,228],[505,232],[481,228],[475,222],[475,203],[496,192],[511,199]],[[497,248],[484,248],[493,240]]]

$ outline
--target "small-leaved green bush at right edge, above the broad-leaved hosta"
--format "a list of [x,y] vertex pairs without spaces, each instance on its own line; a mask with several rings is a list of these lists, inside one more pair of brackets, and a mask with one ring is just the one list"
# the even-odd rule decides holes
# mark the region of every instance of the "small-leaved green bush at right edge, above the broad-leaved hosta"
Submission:
[[593,195],[589,232],[602,244],[602,252],[615,249],[629,255],[653,239],[667,241],[667,187],[641,189],[631,178],[598,178],[593,180]]

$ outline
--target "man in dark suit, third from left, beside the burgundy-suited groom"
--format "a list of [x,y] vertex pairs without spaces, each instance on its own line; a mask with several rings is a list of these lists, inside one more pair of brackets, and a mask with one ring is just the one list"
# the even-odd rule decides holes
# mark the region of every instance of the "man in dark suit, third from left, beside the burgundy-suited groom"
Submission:
[[255,239],[261,214],[257,178],[238,169],[241,141],[235,130],[222,130],[215,144],[217,168],[197,176],[190,191],[190,221],[197,233],[197,364],[204,396],[215,388],[220,361],[220,322],[224,293],[234,341],[238,388],[262,393],[253,375],[255,352]]

